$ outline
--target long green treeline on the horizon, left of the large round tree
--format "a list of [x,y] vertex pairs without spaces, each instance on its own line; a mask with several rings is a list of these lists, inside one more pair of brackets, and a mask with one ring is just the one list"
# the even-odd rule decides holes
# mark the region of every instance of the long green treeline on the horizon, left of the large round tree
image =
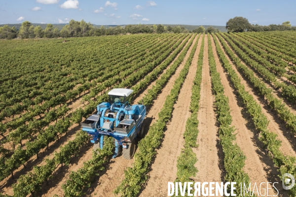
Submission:
[[15,27],[4,25],[0,27],[0,39],[13,39],[13,38],[57,38],[57,37],[84,37],[84,36],[101,36],[101,35],[119,35],[119,34],[135,34],[135,33],[216,33],[218,29],[204,27],[189,31],[180,26],[163,26],[163,25],[126,25],[116,26],[114,28],[100,28],[93,26],[91,23],[86,23],[84,20],[74,21],[71,20],[69,24],[65,25],[61,31],[54,28],[52,24],[47,24],[43,30],[41,26],[34,26],[31,22],[25,21],[19,30]]

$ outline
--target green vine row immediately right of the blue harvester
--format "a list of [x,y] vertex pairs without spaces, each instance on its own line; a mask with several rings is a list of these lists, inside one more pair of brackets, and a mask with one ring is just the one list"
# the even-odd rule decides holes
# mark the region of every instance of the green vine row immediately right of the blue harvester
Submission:
[[[194,36],[195,37],[195,36]],[[193,38],[191,38],[193,41]],[[190,42],[191,42],[190,41]],[[195,49],[193,49],[195,51]],[[181,53],[178,57],[183,60],[185,52]],[[177,61],[178,61],[177,60]],[[176,61],[176,62],[177,62]],[[181,61],[182,62],[182,61]],[[174,63],[175,64],[175,63]],[[180,63],[181,64],[181,63]],[[184,68],[181,70],[179,77],[174,83],[174,87],[170,92],[170,95],[166,97],[163,108],[158,114],[159,119],[156,120],[152,126],[150,126],[148,134],[138,144],[138,152],[135,154],[135,162],[132,167],[125,170],[125,178],[120,185],[115,189],[115,194],[120,194],[125,197],[134,197],[139,193],[142,185],[147,181],[148,170],[152,159],[155,157],[155,149],[159,147],[163,138],[163,130],[166,127],[167,121],[172,116],[172,110],[176,100],[178,99],[179,91],[185,80],[185,77],[189,71],[191,62],[185,63]],[[153,88],[152,88],[153,89]],[[149,94],[149,93],[148,93]]]

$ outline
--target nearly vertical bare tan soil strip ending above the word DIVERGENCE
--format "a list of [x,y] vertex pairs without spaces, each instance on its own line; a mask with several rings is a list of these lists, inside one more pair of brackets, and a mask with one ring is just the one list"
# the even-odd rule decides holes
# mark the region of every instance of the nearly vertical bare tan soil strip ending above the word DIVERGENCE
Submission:
[[214,95],[211,88],[211,77],[208,60],[208,36],[205,37],[205,48],[202,68],[202,83],[198,110],[197,174],[196,182],[222,181],[222,148],[218,140],[218,128],[214,112]]

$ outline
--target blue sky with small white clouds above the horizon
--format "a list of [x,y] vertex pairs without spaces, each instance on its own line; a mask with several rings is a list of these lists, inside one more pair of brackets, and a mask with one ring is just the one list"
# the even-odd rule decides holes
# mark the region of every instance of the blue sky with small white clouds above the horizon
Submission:
[[96,25],[221,25],[235,16],[251,24],[290,21],[296,26],[296,0],[0,0],[0,24],[67,23]]

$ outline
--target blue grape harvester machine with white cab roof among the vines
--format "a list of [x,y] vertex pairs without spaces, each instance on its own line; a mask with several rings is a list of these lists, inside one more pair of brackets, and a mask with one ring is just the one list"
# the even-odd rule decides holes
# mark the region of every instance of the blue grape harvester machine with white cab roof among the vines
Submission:
[[97,111],[81,124],[82,130],[91,137],[93,148],[103,149],[104,135],[114,138],[115,151],[113,158],[122,152],[125,159],[132,159],[136,143],[135,138],[143,137],[143,120],[146,117],[146,106],[129,105],[128,100],[133,90],[116,88],[111,90],[109,102],[97,105]]

